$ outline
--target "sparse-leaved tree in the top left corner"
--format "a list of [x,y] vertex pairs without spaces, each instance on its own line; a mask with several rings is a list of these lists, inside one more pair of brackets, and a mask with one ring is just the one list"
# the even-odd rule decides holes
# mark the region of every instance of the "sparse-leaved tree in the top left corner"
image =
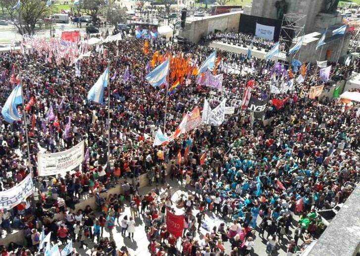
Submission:
[[20,6],[16,9],[12,7],[16,4],[15,0],[0,0],[0,5],[10,16],[11,20],[18,20],[15,26],[20,34],[35,34],[35,25],[40,19],[44,19],[50,14],[49,8],[44,0],[21,0]]

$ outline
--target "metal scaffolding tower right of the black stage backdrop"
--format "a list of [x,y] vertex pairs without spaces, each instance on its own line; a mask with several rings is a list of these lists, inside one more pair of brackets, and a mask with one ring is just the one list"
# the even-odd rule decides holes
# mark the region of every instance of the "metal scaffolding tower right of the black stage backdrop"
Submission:
[[299,13],[284,14],[279,39],[282,46],[280,51],[289,52],[293,42],[296,44],[304,36],[306,17],[306,14]]

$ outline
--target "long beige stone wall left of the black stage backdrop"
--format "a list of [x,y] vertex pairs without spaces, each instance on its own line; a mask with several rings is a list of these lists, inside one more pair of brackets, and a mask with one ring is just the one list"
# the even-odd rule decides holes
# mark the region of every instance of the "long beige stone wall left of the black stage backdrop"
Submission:
[[184,30],[179,32],[179,36],[190,42],[198,43],[202,37],[215,32],[215,30],[238,32],[240,15],[241,11],[236,11],[187,21]]

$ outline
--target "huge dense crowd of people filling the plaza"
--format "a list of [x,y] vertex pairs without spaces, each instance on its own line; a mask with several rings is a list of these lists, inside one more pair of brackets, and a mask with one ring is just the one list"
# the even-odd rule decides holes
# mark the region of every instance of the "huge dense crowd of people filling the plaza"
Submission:
[[[230,34],[219,37],[232,38],[227,35]],[[254,46],[257,42],[265,48],[272,44],[249,36],[236,36],[236,40],[250,40]],[[324,230],[316,210],[344,203],[358,184],[359,105],[349,106],[323,97],[309,99],[310,86],[320,82],[315,66],[307,70],[305,81],[296,84],[294,90],[272,96],[288,98],[280,108],[268,102],[264,118],[270,124],[266,125],[264,118],[254,118],[250,111],[241,109],[241,99],[247,80],[254,81],[255,97],[260,99],[265,94],[267,98],[274,61],[217,52],[217,72],[223,73],[221,94],[210,96],[209,88],[197,85],[196,76],[192,76],[190,85],[184,81],[165,102],[166,88],[153,88],[144,79],[153,53],[183,52],[200,64],[211,49],[159,39],[151,42],[149,53],[144,54],[144,42],[134,38],[105,46],[105,54],[94,48],[93,56],[81,61],[80,77],[75,76],[69,63],[45,61],[42,53],[0,53],[1,105],[13,88],[10,81],[18,74],[24,102],[35,99],[27,111],[30,169],[21,121],[9,124],[1,120],[1,190],[13,187],[30,172],[34,173],[36,185],[31,198],[0,211],[2,231],[8,235],[13,229],[23,229],[26,241],[24,245],[11,243],[3,247],[3,256],[40,255],[36,252],[43,230],[45,234],[52,232],[52,242],[63,245],[73,240],[80,242],[80,247],[89,248],[89,243],[96,241],[90,248],[92,255],[128,255],[127,248],[113,240],[113,229],[119,226],[123,235],[133,239],[137,218],[143,219],[152,255],[248,255],[261,238],[267,254],[284,245],[291,256]],[[330,63],[332,79],[326,85],[350,76],[356,63]],[[107,64],[111,76],[117,73],[104,92],[104,101],[110,101],[109,109],[107,104],[86,99]],[[233,72],[234,66],[240,73]],[[127,67],[131,75],[124,82],[122,74]],[[247,74],[250,69],[251,74]],[[295,71],[286,73],[297,76]],[[110,90],[110,99],[106,90]],[[163,125],[165,113],[164,132],[171,134],[183,113],[202,107],[205,98],[211,107],[226,98],[227,105],[235,107],[235,114],[226,115],[221,126],[203,124],[167,145],[153,146],[152,138],[157,127]],[[58,125],[47,121],[50,108]],[[71,130],[63,139],[69,118]],[[81,169],[64,176],[37,175],[37,153],[60,152],[82,140],[89,158]],[[179,152],[181,164],[177,164]],[[206,161],[202,164],[204,153]],[[140,195],[139,175],[143,173],[147,173],[149,185],[158,185],[165,193],[160,196],[156,186],[149,194]],[[121,178],[126,178],[121,194],[104,193],[120,186]],[[174,200],[166,185],[170,180],[179,181],[190,192]],[[75,210],[76,204],[87,197],[95,197],[97,208]],[[130,205],[131,216],[123,213],[124,202]],[[183,210],[181,238],[167,232],[166,209]],[[61,219],[54,217],[58,213],[63,216]],[[221,223],[211,226],[208,217]],[[110,237],[103,237],[104,229]],[[206,231],[204,238],[200,239],[198,230]],[[177,243],[181,243],[181,249]]]

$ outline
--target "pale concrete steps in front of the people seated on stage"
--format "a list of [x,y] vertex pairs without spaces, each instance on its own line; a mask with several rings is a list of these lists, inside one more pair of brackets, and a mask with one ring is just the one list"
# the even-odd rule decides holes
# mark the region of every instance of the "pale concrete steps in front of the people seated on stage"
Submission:
[[[248,53],[248,47],[243,47],[236,45],[233,45],[233,43],[228,44],[228,43],[223,43],[221,41],[212,41],[209,44],[209,47],[214,48],[214,49],[218,49],[221,51],[231,51],[231,52],[235,52],[235,53],[242,53],[242,54],[247,54]],[[257,48],[253,47],[252,50],[252,56],[256,57],[256,58],[261,58],[264,59],[265,58],[265,54],[266,51],[264,51],[263,49],[261,50],[257,50]],[[271,59],[273,60],[282,60],[285,61],[286,60],[286,55],[283,52],[279,52],[278,56],[274,56]]]

